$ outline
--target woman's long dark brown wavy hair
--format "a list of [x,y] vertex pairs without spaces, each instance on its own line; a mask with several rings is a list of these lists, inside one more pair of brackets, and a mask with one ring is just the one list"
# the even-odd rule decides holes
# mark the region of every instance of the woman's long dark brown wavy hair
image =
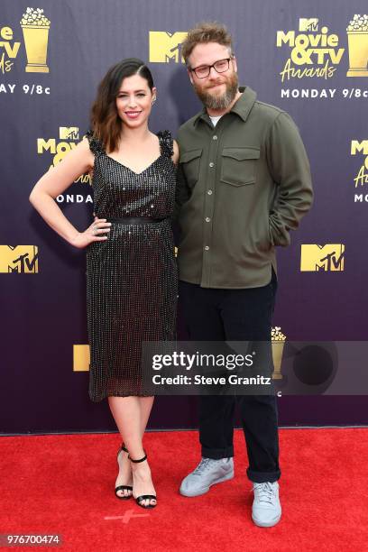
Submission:
[[97,88],[97,97],[91,108],[91,129],[108,152],[114,152],[120,139],[122,121],[116,109],[116,97],[125,77],[140,75],[146,79],[150,90],[153,78],[144,61],[128,58],[108,69]]

